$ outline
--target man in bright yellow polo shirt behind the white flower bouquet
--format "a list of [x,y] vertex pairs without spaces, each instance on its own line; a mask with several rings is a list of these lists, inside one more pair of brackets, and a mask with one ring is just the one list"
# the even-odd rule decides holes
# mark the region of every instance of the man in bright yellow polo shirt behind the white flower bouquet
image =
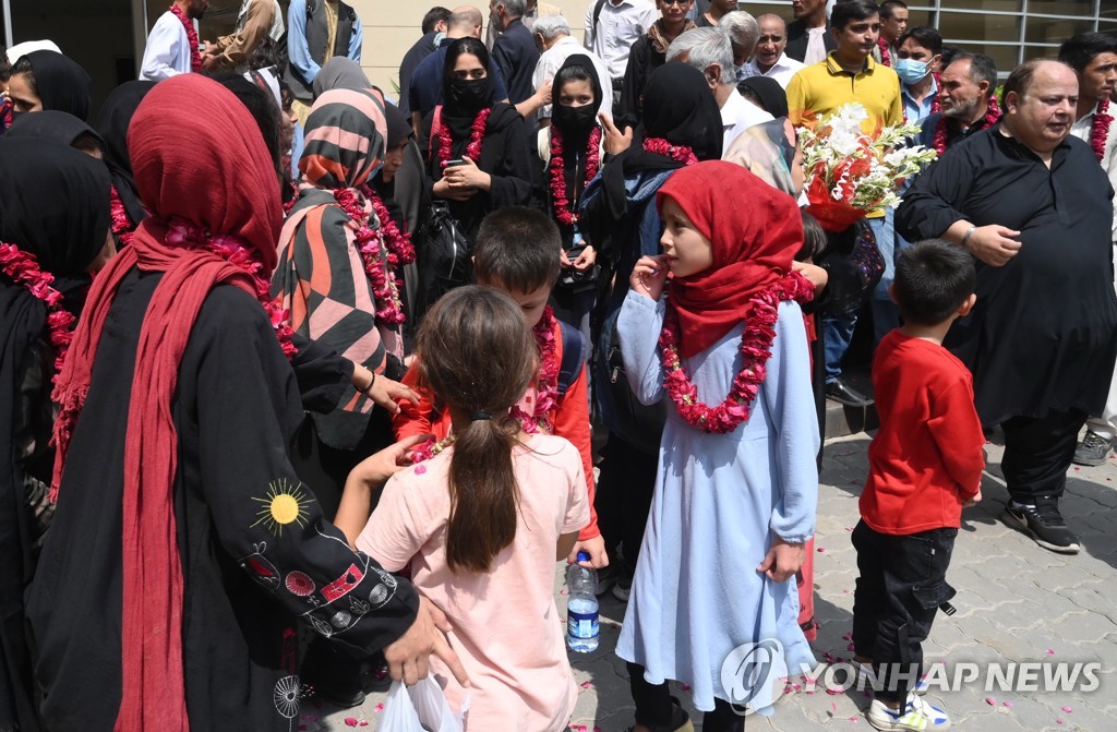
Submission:
[[[830,16],[830,32],[838,48],[824,61],[801,69],[787,85],[787,108],[794,124],[812,114],[825,115],[843,104],[857,102],[869,113],[862,123],[867,133],[878,126],[904,121],[900,80],[896,72],[872,59],[880,37],[880,10],[871,0],[842,0]],[[868,217],[885,256],[885,276],[891,276],[891,213],[873,211]],[[866,407],[872,400],[858,393],[841,379],[841,362],[853,339],[857,312],[823,315],[822,345],[825,354],[827,396],[850,407]]]

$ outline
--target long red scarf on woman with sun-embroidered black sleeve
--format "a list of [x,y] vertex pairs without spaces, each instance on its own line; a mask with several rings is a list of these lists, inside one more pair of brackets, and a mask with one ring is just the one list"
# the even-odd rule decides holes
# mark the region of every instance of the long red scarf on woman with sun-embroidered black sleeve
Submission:
[[[190,110],[216,114],[189,144]],[[219,284],[257,296],[239,266],[204,250],[170,246],[165,221],[182,217],[242,239],[264,269],[276,266],[279,190],[251,115],[235,96],[199,75],[160,83],[144,98],[128,135],[140,196],[152,209],[132,246],[97,276],[54,398],[54,485],[63,476],[69,434],[88,393],[94,359],[117,288],[133,267],[162,272],[144,315],[124,445],[123,617],[117,732],[187,732],[183,679],[183,574],[173,492],[178,435],[171,419],[179,363],[198,312]],[[201,135],[198,137],[198,135]]]

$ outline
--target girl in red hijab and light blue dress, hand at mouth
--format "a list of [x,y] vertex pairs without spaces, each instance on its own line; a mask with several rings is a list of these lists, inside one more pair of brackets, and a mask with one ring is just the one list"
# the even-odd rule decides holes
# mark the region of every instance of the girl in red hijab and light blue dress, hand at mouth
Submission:
[[[741,730],[734,706],[771,713],[780,676],[814,666],[793,581],[818,492],[799,307],[813,286],[792,273],[795,201],[744,168],[684,168],[657,202],[663,254],[637,263],[618,331],[636,396],[672,403],[617,653],[633,730],[686,724],[667,679],[691,686],[704,730]],[[761,641],[786,668],[752,684],[742,644]]]

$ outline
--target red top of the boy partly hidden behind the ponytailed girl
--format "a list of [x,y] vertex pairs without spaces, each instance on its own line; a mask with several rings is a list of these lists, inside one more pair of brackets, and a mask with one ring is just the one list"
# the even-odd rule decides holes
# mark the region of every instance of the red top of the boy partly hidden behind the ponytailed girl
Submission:
[[[562,333],[560,333],[558,322],[555,321],[555,358],[562,363]],[[442,439],[450,434],[450,412],[443,409],[438,416],[438,421],[431,424],[431,412],[435,405],[430,394],[418,388],[418,358],[408,369],[403,377],[403,383],[414,389],[420,397],[418,406],[409,401],[400,402],[400,413],[392,418],[392,429],[395,430],[395,439],[403,439],[412,435],[430,434],[435,439]],[[585,470],[585,486],[590,498],[590,523],[583,529],[577,538],[582,541],[593,539],[601,533],[598,529],[598,511],[593,507],[595,494],[593,485],[593,455],[590,438],[590,396],[586,387],[586,375],[589,367],[582,369],[577,379],[570,384],[566,393],[555,400],[555,408],[551,411],[551,424],[554,425],[556,437],[564,437],[570,440],[582,455],[582,467]],[[521,400],[521,407],[531,413],[532,403],[535,400],[535,389],[528,389]]]

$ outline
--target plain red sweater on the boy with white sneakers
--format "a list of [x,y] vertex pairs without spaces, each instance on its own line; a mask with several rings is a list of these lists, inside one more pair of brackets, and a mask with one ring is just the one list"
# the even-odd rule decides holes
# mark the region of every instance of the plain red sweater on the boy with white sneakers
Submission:
[[884,534],[957,529],[985,467],[973,377],[943,346],[896,330],[877,346],[872,386],[880,431],[861,517]]

